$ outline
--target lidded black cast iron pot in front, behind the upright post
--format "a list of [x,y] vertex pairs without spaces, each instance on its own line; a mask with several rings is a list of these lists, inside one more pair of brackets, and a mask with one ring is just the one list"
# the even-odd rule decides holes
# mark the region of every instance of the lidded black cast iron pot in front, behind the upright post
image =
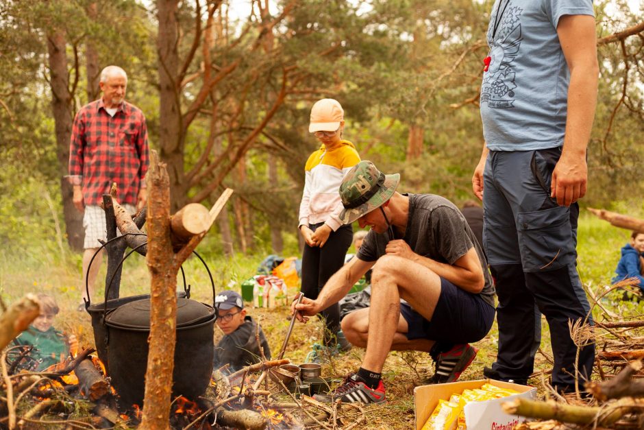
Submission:
[[[196,401],[206,392],[214,357],[214,307],[177,299],[177,344],[173,396]],[[150,300],[123,304],[105,318],[109,374],[125,405],[143,405],[150,321]]]

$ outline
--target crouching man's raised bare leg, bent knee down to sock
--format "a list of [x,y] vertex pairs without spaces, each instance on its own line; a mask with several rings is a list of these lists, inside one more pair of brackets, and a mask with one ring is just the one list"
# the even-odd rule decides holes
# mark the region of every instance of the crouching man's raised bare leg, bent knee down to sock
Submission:
[[[370,326],[361,367],[381,373],[401,320],[400,298],[431,320],[441,296],[441,278],[423,265],[386,255],[373,266],[371,281]],[[401,342],[400,337],[397,341]]]

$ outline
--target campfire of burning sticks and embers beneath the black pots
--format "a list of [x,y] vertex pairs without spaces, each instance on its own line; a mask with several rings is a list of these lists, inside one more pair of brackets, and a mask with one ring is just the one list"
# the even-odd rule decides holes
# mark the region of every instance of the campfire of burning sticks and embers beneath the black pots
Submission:
[[[20,366],[10,358],[24,360],[24,348],[7,348],[1,357],[6,374],[0,398],[0,411],[5,418],[0,419],[0,426],[10,421],[18,428],[45,423],[84,429],[140,424],[142,407],[122,401],[94,349],[86,348],[42,372],[33,372],[18,370]],[[365,419],[359,405],[325,405],[289,392],[279,379],[267,378],[271,369],[289,362],[262,361],[227,375],[225,368],[215,370],[204,396],[194,401],[184,396],[173,399],[170,427],[303,429],[330,427],[332,420],[350,429]],[[83,410],[87,412],[85,416],[79,413]]]

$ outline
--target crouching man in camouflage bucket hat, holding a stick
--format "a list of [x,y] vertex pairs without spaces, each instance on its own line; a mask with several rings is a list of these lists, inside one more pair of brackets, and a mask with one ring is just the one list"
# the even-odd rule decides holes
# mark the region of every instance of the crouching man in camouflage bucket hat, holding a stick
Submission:
[[456,381],[476,356],[469,342],[492,326],[492,278],[467,221],[440,195],[398,193],[399,182],[399,174],[382,174],[371,161],[347,173],[340,185],[340,219],[371,230],[357,258],[328,280],[316,300],[304,298],[291,307],[306,322],[373,267],[371,307],[342,321],[349,342],[367,349],[360,369],[319,400],[386,402],[380,374],[390,350],[430,353],[436,366],[432,383]]

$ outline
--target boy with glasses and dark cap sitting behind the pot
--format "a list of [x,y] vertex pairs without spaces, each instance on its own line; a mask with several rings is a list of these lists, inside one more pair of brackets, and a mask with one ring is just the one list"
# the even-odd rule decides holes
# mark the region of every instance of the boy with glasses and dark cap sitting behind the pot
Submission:
[[255,338],[259,330],[260,344],[264,356],[271,359],[271,348],[264,336],[264,331],[250,315],[246,315],[244,302],[236,291],[225,290],[214,298],[217,311],[217,326],[224,336],[214,347],[214,368],[229,364],[234,372],[249,364],[258,363],[262,357],[260,345]]

